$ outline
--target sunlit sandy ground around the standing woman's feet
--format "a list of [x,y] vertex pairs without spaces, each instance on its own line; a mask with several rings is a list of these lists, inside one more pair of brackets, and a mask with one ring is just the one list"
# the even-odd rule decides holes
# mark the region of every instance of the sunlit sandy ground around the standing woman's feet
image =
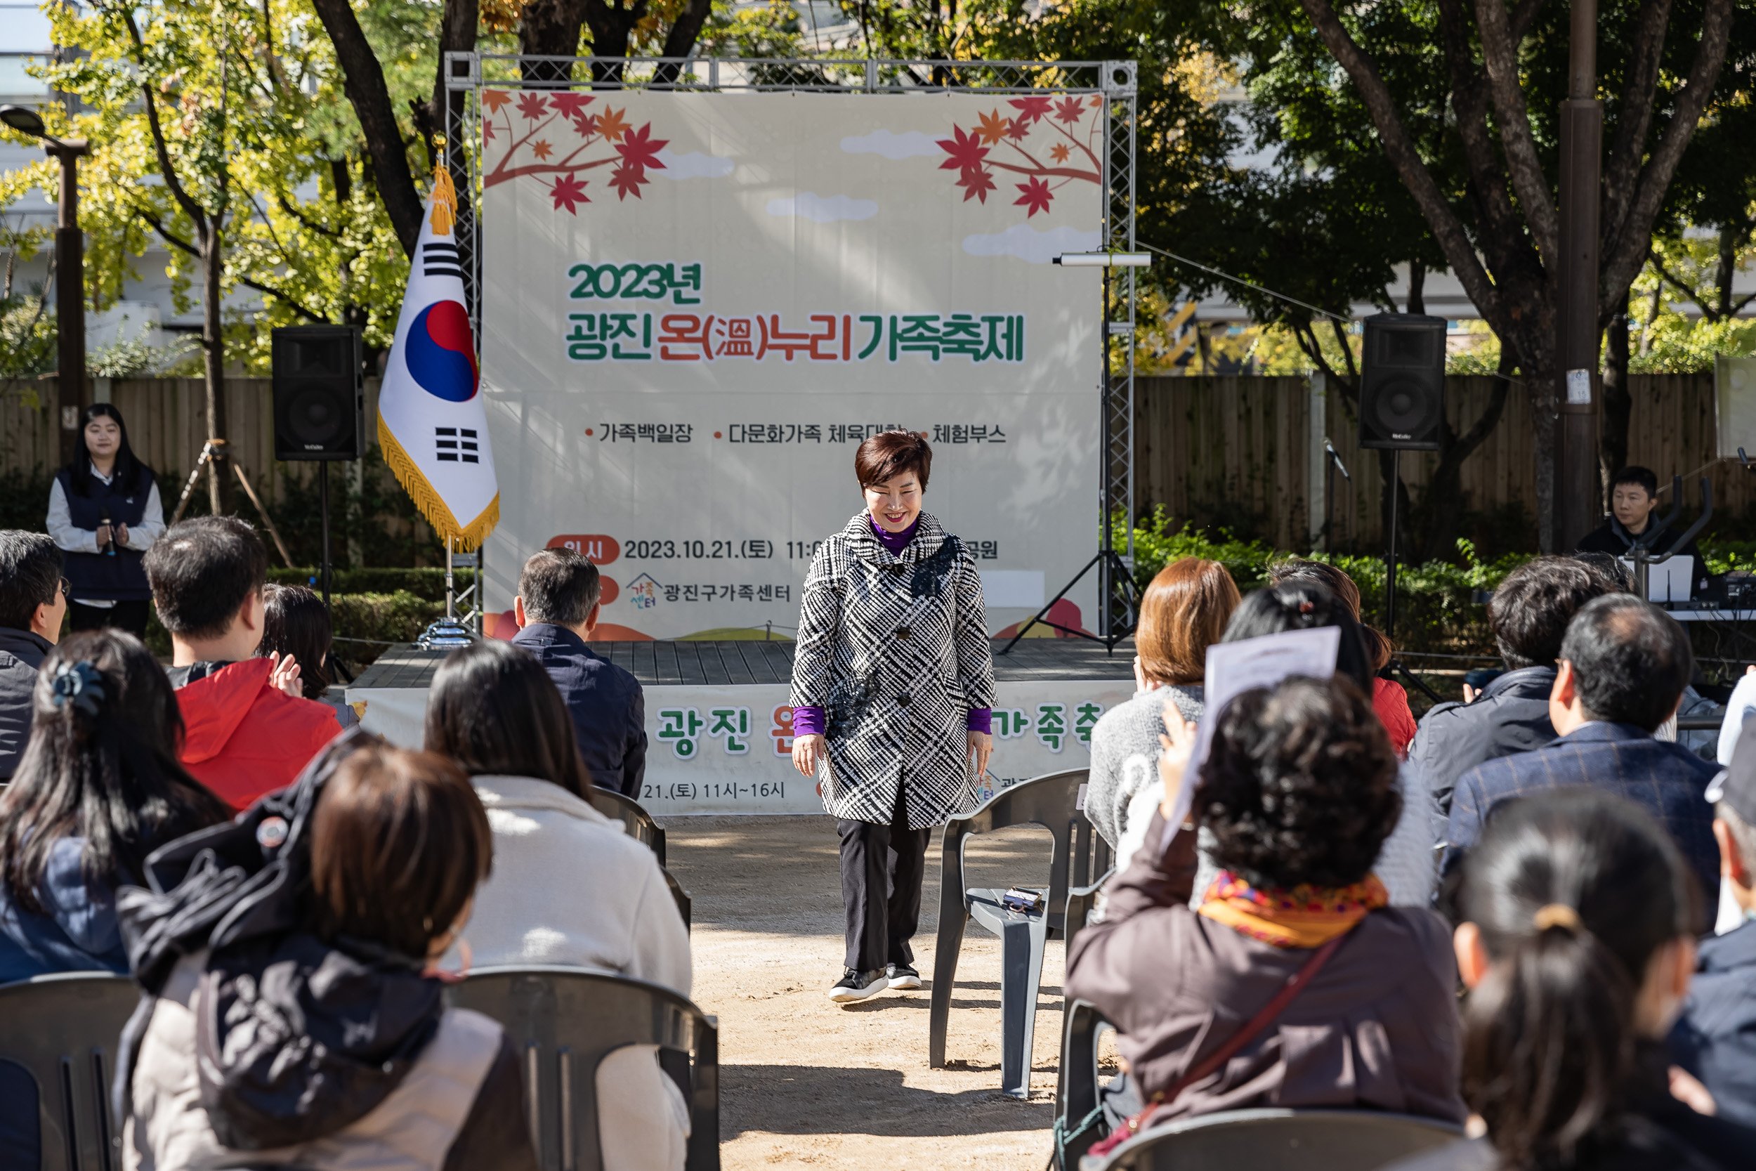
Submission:
[[[1040,1171],[1061,1045],[1062,945],[1048,943],[1031,1101],[999,1092],[999,939],[964,936],[945,1055],[927,1067],[939,836],[927,851],[920,992],[839,1006],[841,880],[827,816],[667,818],[671,871],[694,897],[695,1002],[720,1018],[723,1166]],[[1047,830],[969,848],[975,887],[1048,883]]]

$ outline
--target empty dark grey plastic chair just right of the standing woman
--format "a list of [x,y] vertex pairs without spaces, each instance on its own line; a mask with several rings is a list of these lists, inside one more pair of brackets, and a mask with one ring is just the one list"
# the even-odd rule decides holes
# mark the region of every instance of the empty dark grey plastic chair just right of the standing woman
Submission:
[[[1001,938],[1001,1092],[1018,1099],[1031,1096],[1031,1045],[1036,1038],[1036,990],[1043,983],[1043,948],[1048,939],[1066,936],[1069,876],[1083,887],[1110,866],[1110,844],[1092,832],[1092,823],[1078,808],[1087,774],[1087,769],[1071,769],[1031,778],[946,823],[927,1034],[927,1060],[934,1069],[945,1066],[945,1031],[952,1015],[957,957],[964,946],[964,927],[973,918]],[[976,834],[1010,825],[1041,825],[1054,837],[1048,887],[1041,888],[1047,899],[1041,909],[1031,913],[1008,911],[1001,902],[1004,888],[964,888],[964,844]]]

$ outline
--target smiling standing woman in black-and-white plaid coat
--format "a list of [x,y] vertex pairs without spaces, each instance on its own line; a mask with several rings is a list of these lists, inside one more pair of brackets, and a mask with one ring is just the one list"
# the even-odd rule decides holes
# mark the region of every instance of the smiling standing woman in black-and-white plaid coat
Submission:
[[908,941],[927,839],[975,804],[971,778],[994,744],[982,578],[962,541],[920,511],[932,449],[915,432],[882,432],[853,471],[866,511],[811,558],[792,662],[792,762],[820,776],[841,837],[838,1002],[920,987]]

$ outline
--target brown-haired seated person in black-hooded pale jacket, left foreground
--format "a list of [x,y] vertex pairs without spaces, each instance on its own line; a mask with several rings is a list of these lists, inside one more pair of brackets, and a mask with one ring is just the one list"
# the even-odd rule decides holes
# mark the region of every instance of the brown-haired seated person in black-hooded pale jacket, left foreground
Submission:
[[[153,871],[186,867],[183,881],[130,892],[153,994],[119,1059],[130,1171],[536,1171],[522,1057],[493,1020],[444,1006],[434,967],[492,864],[481,802],[457,764],[353,737],[307,772],[302,801],[270,797],[274,816],[174,844]],[[223,888],[218,909],[255,906],[216,927],[197,909],[212,887],[195,858],[221,843],[269,858],[256,876],[283,874]],[[151,913],[163,918],[133,918]]]

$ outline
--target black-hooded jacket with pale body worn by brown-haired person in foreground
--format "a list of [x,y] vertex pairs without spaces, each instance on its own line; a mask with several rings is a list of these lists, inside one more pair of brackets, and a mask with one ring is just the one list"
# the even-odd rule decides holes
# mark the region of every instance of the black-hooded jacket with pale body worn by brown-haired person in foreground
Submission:
[[116,908],[144,999],[116,1113],[130,1171],[288,1166],[534,1171],[516,1055],[444,1009],[416,959],[302,930],[309,820],[339,737],[299,781],[146,862]]

